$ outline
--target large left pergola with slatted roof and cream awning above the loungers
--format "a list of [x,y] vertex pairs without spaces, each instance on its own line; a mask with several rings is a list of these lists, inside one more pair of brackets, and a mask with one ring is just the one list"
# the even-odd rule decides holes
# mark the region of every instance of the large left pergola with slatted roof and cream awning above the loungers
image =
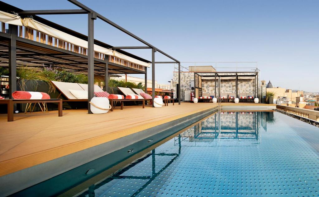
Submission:
[[[66,71],[88,75],[88,101],[93,98],[94,75],[104,75],[105,91],[110,74],[145,74],[152,65],[152,97],[155,93],[155,64],[180,62],[140,39],[121,26],[76,0],[68,0],[78,10],[32,10],[25,11],[0,1],[0,66],[9,68],[9,95],[16,91],[16,69],[28,67],[60,67]],[[38,17],[37,14],[87,14],[88,36]],[[101,19],[146,46],[114,47],[93,38],[94,20]],[[5,31],[8,24],[8,32]],[[86,28],[86,26],[85,26]],[[152,61],[145,60],[121,49],[152,49]],[[155,62],[155,52],[173,62]],[[180,102],[179,102],[180,103]],[[88,104],[88,112],[91,113]]]

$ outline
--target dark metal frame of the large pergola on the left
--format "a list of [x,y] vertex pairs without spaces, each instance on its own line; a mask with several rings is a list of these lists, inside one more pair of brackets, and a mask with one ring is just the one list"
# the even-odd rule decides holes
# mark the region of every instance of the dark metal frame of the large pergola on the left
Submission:
[[[83,54],[78,54],[78,53],[74,53],[74,52],[68,52],[66,50],[57,48],[57,47],[53,47],[53,46],[48,46],[42,43],[37,43],[34,42],[32,40],[27,40],[27,39],[23,39],[18,37],[17,33],[18,33],[18,26],[17,25],[10,25],[9,24],[9,34],[3,33],[1,32],[0,34],[0,38],[1,40],[3,39],[7,39],[8,40],[8,65],[9,65],[9,95],[10,98],[12,97],[12,93],[16,90],[16,64],[17,64],[17,42],[24,42],[24,43],[29,43],[35,46],[41,46],[41,47],[45,47],[47,49],[52,49],[55,50],[57,52],[60,53],[67,53],[70,55],[74,55],[76,57],[82,57],[82,58],[86,58],[87,59],[87,74],[88,74],[88,113],[91,114],[91,109],[90,109],[90,101],[91,99],[94,97],[94,65],[96,64],[96,62],[101,63],[104,65],[104,69],[102,66],[100,71],[104,70],[104,75],[105,75],[105,87],[108,87],[108,67],[109,65],[113,65],[113,66],[122,66],[122,65],[117,65],[117,64],[113,64],[112,62],[109,62],[108,60],[108,56],[106,55],[104,57],[104,60],[100,60],[100,59],[96,59],[94,58],[94,44],[100,45],[100,46],[106,46],[107,44],[102,43],[98,40],[94,40],[94,20],[96,20],[97,18],[101,19],[102,21],[108,23],[109,25],[112,25],[113,27],[119,29],[120,31],[128,34],[129,36],[133,37],[134,39],[137,39],[138,41],[142,42],[143,44],[147,45],[147,46],[122,46],[122,47],[114,47],[114,46],[109,46],[108,48],[111,49],[118,49],[119,51],[121,51],[121,53],[125,54],[125,55],[129,55],[130,57],[136,58],[138,60],[142,60],[142,61],[146,61],[149,62],[147,60],[144,60],[142,58],[139,58],[137,56],[134,56],[128,52],[122,51],[120,49],[152,49],[152,98],[155,97],[155,64],[160,64],[160,63],[176,63],[178,64],[178,82],[179,82],[179,98],[178,98],[178,103],[181,104],[181,94],[180,94],[180,68],[181,68],[181,63],[180,61],[176,60],[175,58],[173,58],[172,56],[168,55],[167,53],[164,53],[163,51],[159,50],[158,48],[156,48],[155,46],[151,45],[150,43],[146,42],[145,40],[137,37],[135,34],[129,32],[128,30],[124,29],[123,27],[115,24],[114,22],[110,21],[109,19],[105,18],[104,16],[102,16],[101,14],[99,14],[96,11],[93,11],[92,9],[90,9],[89,7],[85,6],[84,4],[81,4],[80,2],[76,1],[76,0],[68,0],[70,3],[76,5],[77,7],[79,7],[80,9],[76,9],[76,10],[21,10],[19,8],[16,8],[14,6],[11,6],[9,4],[5,4],[4,2],[0,1],[0,5],[1,8],[0,10],[3,11],[13,11],[14,13],[18,13],[21,16],[29,16],[29,15],[34,15],[33,18],[35,18],[36,20],[38,20],[39,22],[42,22],[44,24],[47,24],[53,28],[59,29],[61,31],[66,31],[68,33],[70,33],[73,36],[76,36],[78,38],[81,39],[85,39],[88,41],[88,48],[87,48],[87,55],[83,55]],[[57,25],[53,22],[50,22],[48,20],[45,20],[43,18],[40,18],[38,16],[36,16],[37,14],[42,15],[52,15],[52,14],[87,14],[88,15],[88,36],[86,37],[83,34],[80,34],[78,32],[69,30],[61,25]],[[0,41],[1,41],[0,40]],[[163,55],[165,55],[166,57],[170,58],[171,60],[173,60],[172,62],[155,62],[155,52],[159,52],[162,53]],[[37,59],[38,60],[38,59]],[[48,62],[48,64],[50,64],[50,62]],[[124,66],[123,66],[124,67]],[[128,67],[129,68],[129,67]],[[130,69],[130,68],[129,68]],[[143,74],[143,72],[141,71],[140,73]],[[145,89],[147,89],[147,67],[145,67]],[[14,80],[13,80],[14,79]],[[106,89],[107,90],[107,89]]]

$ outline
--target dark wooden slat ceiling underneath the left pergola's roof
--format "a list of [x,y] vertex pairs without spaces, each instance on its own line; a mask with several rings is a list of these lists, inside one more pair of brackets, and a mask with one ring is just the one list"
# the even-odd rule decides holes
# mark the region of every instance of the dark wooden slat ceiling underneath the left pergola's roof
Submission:
[[[29,67],[60,67],[66,71],[87,74],[87,58],[61,53],[55,50],[42,48],[17,41],[17,66]],[[8,67],[8,41],[0,40],[0,66]],[[122,68],[114,65],[108,66],[109,74],[142,74],[129,67]],[[94,74],[104,75],[104,63],[94,61]]]

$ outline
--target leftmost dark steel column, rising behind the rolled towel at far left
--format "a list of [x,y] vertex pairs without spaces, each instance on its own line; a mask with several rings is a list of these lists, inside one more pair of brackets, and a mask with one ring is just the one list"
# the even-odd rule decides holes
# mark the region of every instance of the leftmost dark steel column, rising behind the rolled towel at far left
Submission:
[[[17,90],[17,34],[18,26],[9,24],[9,98]],[[9,112],[8,112],[9,113]]]

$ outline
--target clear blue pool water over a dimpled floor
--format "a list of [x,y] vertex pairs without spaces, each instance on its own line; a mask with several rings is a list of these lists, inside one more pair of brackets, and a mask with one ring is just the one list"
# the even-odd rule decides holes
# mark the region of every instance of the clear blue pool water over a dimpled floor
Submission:
[[79,196],[317,197],[318,158],[315,126],[278,112],[221,112]]

